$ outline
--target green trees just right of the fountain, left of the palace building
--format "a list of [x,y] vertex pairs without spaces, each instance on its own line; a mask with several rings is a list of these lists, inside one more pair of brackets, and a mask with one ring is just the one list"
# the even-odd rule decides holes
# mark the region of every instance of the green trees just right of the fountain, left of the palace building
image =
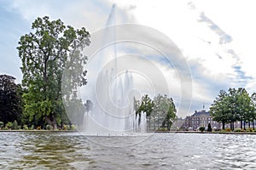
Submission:
[[141,100],[135,99],[135,110],[139,115],[142,111],[147,113],[148,127],[154,123],[154,127],[167,127],[170,130],[172,122],[177,118],[177,110],[172,98],[158,94],[150,99],[148,94],[143,95]]

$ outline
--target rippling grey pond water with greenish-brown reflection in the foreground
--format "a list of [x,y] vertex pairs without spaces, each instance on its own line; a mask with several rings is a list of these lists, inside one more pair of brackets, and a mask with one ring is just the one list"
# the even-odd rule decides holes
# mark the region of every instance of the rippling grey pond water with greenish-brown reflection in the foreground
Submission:
[[1,169],[255,169],[256,135],[0,133]]

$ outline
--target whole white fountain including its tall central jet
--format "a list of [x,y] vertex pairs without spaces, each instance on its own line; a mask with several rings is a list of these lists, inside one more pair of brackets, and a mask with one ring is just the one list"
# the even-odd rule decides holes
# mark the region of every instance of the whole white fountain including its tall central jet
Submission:
[[[114,22],[115,4],[111,8],[107,26],[114,26]],[[106,31],[104,38],[114,40],[113,31]],[[84,104],[83,125],[79,130],[88,134],[144,133],[147,127],[146,113],[136,114],[134,110],[132,71],[119,71],[116,44],[110,48],[108,52],[102,49],[97,54],[95,67],[100,71],[96,73],[96,80],[88,80],[90,91],[94,93],[86,96],[90,100]]]

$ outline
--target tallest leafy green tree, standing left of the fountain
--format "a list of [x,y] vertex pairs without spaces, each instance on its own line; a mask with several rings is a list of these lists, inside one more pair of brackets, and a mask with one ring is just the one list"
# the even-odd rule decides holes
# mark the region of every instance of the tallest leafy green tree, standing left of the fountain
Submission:
[[[85,85],[86,57],[81,51],[90,44],[85,28],[75,30],[61,20],[48,16],[32,23],[32,32],[20,37],[22,85],[26,88],[25,115],[30,122],[48,122],[56,127],[64,107],[61,102],[61,78],[66,66],[70,86]],[[73,78],[75,77],[75,78]],[[72,92],[72,91],[71,91]],[[70,94],[72,95],[72,94]]]

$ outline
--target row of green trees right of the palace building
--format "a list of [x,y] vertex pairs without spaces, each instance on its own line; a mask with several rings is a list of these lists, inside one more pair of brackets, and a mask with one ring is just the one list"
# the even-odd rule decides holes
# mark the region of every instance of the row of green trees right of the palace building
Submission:
[[218,97],[213,101],[210,112],[214,121],[221,122],[223,129],[225,123],[230,123],[234,130],[234,122],[240,122],[241,128],[251,124],[254,129],[256,119],[256,94],[248,94],[245,88],[230,88],[228,92],[220,90]]

